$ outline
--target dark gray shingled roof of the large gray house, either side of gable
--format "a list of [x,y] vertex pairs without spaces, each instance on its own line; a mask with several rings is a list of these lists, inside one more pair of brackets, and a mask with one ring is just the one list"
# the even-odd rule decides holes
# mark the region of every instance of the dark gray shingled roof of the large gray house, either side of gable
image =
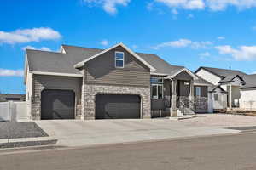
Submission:
[[[79,70],[74,68],[74,65],[104,50],[70,45],[62,45],[61,47],[65,53],[26,49],[29,70],[81,75]],[[152,71],[152,73],[155,74],[172,76],[184,69],[183,66],[170,65],[156,54],[136,54],[147,61],[149,65],[154,66],[155,71]]]

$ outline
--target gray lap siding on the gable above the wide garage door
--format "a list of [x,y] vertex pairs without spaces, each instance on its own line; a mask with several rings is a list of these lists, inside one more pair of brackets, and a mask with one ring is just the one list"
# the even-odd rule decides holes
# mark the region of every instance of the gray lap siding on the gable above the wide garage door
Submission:
[[[115,68],[114,53],[125,53],[125,68]],[[84,65],[84,83],[148,87],[150,71],[138,59],[117,47]]]

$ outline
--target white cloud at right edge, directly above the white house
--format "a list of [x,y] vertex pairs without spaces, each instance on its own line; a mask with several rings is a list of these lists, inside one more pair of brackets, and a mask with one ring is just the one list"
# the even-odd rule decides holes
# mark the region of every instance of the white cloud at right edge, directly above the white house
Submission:
[[241,46],[232,48],[229,45],[218,46],[219,54],[230,54],[236,60],[254,60],[256,59],[256,46]]

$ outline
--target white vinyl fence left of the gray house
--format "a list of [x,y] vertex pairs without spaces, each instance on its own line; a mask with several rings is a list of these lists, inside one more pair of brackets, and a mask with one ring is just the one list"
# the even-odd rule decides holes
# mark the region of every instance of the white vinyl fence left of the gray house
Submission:
[[0,102],[0,121],[29,120],[26,102]]

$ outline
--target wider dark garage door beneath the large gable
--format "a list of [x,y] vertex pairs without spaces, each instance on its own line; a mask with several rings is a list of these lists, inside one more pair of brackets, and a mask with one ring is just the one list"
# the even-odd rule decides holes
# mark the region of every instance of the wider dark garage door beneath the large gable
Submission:
[[141,99],[137,95],[96,95],[96,119],[140,118]]

